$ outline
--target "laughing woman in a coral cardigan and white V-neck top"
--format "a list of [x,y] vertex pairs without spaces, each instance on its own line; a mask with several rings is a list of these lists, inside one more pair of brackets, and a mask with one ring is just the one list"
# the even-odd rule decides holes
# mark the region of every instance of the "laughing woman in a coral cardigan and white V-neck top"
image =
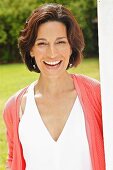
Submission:
[[84,38],[72,13],[45,4],[28,18],[19,48],[40,73],[4,109],[11,170],[104,170],[100,85],[69,74],[82,58]]

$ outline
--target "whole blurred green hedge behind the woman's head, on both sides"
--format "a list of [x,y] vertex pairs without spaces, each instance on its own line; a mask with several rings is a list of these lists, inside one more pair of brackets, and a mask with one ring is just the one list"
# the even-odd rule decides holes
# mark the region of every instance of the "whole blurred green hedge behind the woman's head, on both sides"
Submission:
[[[96,53],[97,25],[96,0],[0,0],[0,62],[18,62],[20,55],[17,39],[26,19],[33,9],[44,3],[61,3],[67,6],[77,18],[86,42],[86,52]],[[10,57],[11,56],[11,57]]]

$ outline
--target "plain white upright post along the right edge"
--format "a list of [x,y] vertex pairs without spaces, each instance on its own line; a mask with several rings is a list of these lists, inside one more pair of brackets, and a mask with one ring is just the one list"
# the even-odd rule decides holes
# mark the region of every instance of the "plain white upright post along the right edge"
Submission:
[[97,0],[106,170],[113,170],[113,0]]

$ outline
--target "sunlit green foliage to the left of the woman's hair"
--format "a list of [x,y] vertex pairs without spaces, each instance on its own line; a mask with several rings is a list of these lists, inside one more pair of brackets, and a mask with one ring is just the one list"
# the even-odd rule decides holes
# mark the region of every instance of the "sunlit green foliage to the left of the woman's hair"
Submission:
[[0,0],[0,62],[20,61],[17,37],[37,1]]

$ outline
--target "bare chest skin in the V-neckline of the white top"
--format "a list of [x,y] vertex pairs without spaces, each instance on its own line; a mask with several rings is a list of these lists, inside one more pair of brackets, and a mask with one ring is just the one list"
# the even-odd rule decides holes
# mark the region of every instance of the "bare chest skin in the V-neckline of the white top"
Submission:
[[76,96],[60,99],[35,100],[43,124],[49,131],[54,141],[57,141],[70,116]]

